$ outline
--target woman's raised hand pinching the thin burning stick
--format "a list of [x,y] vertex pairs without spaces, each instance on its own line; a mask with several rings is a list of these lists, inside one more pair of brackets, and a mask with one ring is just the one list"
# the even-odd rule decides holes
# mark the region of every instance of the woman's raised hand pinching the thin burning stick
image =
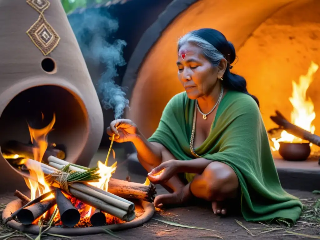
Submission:
[[111,137],[115,134],[115,142],[132,142],[138,137],[138,128],[129,119],[116,119],[110,123],[107,134]]

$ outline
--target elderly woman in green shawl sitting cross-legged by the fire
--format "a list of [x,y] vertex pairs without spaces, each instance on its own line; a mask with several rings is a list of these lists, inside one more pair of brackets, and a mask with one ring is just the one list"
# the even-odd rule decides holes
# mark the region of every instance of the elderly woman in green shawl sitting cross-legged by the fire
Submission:
[[116,142],[131,141],[151,182],[169,190],[156,197],[156,207],[200,198],[212,202],[215,214],[226,214],[235,199],[248,221],[294,224],[302,204],[281,187],[259,101],[230,72],[235,58],[219,31],[189,32],[178,42],[185,92],[168,102],[156,132],[147,140],[128,119],[111,122],[107,132]]

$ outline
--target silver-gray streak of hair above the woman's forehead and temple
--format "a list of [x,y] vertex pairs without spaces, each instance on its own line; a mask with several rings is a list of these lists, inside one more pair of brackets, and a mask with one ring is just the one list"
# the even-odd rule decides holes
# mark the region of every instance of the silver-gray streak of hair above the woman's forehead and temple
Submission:
[[219,52],[212,44],[210,44],[203,38],[196,36],[194,32],[189,32],[179,39],[178,51],[180,47],[186,43],[193,43],[200,47],[204,56],[212,63],[213,66],[218,66],[221,59],[226,59],[225,56],[221,52]]

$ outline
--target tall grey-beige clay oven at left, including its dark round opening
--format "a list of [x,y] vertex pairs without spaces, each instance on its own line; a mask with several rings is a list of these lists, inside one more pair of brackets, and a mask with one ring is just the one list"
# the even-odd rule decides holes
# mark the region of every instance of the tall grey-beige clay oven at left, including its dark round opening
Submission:
[[[56,124],[49,142],[66,146],[67,161],[88,165],[103,133],[98,96],[60,1],[51,0],[44,11],[45,19],[61,38],[47,56],[26,34],[38,17],[26,1],[0,1],[0,145],[7,140],[27,143],[27,122],[42,128],[54,112]],[[41,67],[46,57],[56,63],[53,74]],[[18,180],[24,182],[2,156],[0,162],[0,182],[12,182],[10,177],[17,185]],[[0,191],[8,188],[15,186],[3,184]]]

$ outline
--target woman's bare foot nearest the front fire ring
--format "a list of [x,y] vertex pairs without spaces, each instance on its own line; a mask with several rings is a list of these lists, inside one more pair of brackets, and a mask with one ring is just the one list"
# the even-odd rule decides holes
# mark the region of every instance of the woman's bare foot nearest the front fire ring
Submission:
[[181,205],[186,203],[192,197],[189,186],[185,186],[180,192],[162,194],[156,196],[154,200],[155,207],[161,208],[163,205]]

